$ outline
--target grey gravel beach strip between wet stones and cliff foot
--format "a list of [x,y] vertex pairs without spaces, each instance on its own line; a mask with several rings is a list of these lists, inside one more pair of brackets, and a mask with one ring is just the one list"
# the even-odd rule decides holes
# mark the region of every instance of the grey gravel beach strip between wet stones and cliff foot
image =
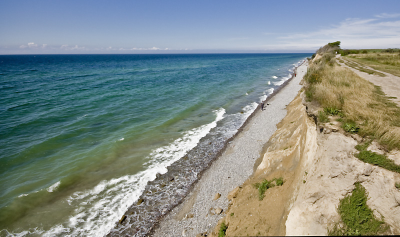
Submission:
[[[183,202],[165,215],[153,230],[153,236],[195,236],[210,231],[224,215],[227,194],[252,173],[264,144],[285,115],[285,106],[301,88],[299,82],[307,71],[304,61],[279,92],[249,118],[241,132],[229,142],[224,152],[203,173]],[[218,198],[218,194],[220,197]]]

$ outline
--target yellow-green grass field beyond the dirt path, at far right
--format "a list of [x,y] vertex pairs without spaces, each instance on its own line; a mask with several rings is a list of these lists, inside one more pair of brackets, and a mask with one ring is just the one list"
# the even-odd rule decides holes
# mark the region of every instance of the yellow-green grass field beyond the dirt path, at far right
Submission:
[[349,54],[346,58],[363,65],[368,65],[374,69],[400,76],[400,53],[398,52]]

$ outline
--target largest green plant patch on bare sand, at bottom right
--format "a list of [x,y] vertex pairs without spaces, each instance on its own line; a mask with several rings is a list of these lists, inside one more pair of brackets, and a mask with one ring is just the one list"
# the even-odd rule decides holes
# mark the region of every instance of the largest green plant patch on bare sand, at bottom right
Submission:
[[328,229],[328,235],[376,235],[388,228],[383,218],[376,219],[366,204],[368,195],[365,188],[359,182],[354,185],[351,195],[341,199],[337,207],[341,222],[336,223],[331,230]]

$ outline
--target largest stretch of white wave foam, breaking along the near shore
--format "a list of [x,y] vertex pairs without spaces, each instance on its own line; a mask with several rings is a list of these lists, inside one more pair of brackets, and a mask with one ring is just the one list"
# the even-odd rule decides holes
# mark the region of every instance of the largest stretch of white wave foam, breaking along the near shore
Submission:
[[[252,106],[245,108],[251,110]],[[223,118],[225,109],[220,108],[214,112],[216,118],[212,122],[186,131],[169,145],[153,150],[148,156],[151,161],[146,163],[146,170],[134,175],[103,180],[92,189],[73,193],[67,202],[76,208],[67,222],[57,224],[47,231],[34,229],[12,233],[10,236],[27,236],[31,231],[42,236],[104,236],[114,227],[115,220],[139,198],[147,182],[154,180],[157,173],[165,173],[167,166],[195,147]],[[51,190],[58,185],[59,181],[50,186]]]

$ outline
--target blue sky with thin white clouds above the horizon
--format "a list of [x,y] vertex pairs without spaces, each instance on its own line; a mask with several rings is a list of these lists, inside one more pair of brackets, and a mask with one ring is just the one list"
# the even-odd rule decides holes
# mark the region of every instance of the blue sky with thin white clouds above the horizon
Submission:
[[400,0],[1,0],[0,54],[400,48]]

